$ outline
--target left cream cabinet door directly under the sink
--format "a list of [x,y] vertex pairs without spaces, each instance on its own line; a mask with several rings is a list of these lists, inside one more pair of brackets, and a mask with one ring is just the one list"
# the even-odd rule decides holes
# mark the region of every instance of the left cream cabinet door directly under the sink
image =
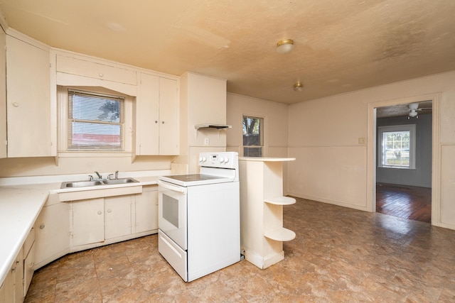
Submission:
[[73,246],[105,241],[104,198],[71,203],[73,209]]

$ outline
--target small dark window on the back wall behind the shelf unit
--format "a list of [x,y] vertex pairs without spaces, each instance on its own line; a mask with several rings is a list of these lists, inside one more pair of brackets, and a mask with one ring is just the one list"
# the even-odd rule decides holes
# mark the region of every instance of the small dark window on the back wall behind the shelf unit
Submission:
[[264,119],[243,116],[243,155],[262,157]]

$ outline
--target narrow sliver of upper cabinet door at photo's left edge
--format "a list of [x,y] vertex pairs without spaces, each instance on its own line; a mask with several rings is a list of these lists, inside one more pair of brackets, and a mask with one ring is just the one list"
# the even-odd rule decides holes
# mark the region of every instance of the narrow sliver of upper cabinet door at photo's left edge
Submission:
[[6,35],[0,27],[0,158],[6,158]]

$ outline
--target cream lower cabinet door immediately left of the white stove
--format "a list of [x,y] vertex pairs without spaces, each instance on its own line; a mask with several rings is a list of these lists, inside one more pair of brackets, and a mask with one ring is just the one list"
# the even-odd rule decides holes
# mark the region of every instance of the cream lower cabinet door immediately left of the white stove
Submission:
[[158,190],[155,187],[142,187],[136,195],[135,233],[158,229]]

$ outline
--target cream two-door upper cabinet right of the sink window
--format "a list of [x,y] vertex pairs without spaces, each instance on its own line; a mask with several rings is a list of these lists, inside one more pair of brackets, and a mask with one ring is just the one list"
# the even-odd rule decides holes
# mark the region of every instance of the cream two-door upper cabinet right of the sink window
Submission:
[[140,74],[136,104],[136,155],[178,155],[178,82]]

